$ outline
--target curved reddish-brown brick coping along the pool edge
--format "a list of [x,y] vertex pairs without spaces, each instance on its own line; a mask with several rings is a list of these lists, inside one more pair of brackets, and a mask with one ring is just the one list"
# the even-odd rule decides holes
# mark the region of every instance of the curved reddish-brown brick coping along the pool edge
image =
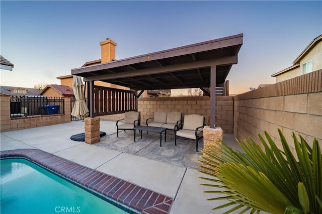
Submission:
[[[26,158],[94,193],[112,198],[143,214],[169,213],[173,198],[38,149],[0,152],[0,158]],[[104,198],[103,198],[104,199]]]

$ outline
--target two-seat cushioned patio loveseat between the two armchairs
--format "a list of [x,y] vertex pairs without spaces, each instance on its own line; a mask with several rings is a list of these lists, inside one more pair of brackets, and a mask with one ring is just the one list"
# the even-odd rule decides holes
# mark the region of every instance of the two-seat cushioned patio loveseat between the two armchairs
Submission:
[[[149,123],[149,121],[152,122]],[[174,130],[175,126],[182,123],[181,112],[154,112],[153,118],[146,119],[146,126],[162,127]]]

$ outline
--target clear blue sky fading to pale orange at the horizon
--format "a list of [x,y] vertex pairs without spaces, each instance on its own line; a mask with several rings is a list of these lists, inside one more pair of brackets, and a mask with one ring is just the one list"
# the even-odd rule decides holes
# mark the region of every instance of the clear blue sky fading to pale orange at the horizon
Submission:
[[[243,33],[229,93],[275,83],[272,74],[322,34],[322,1],[0,1],[1,55],[14,64],[0,84],[33,88],[101,58],[116,59]],[[186,93],[175,90],[173,93]]]

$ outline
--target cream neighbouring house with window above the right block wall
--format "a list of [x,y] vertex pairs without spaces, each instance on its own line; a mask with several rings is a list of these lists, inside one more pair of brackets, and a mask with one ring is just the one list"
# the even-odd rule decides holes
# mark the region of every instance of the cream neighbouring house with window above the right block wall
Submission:
[[322,69],[322,35],[308,44],[293,61],[292,66],[271,76],[275,77],[276,82],[281,82],[319,69]]

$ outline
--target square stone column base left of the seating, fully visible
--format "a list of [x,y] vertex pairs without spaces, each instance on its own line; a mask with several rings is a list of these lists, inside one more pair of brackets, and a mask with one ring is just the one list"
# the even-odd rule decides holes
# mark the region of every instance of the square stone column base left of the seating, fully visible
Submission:
[[100,142],[100,118],[85,118],[85,143]]

